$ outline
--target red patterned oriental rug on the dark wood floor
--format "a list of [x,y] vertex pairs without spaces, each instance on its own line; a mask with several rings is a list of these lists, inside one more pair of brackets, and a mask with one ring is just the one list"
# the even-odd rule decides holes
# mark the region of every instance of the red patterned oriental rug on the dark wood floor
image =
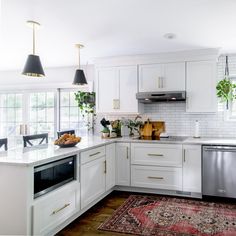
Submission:
[[131,195],[99,230],[156,236],[236,236],[236,205]]

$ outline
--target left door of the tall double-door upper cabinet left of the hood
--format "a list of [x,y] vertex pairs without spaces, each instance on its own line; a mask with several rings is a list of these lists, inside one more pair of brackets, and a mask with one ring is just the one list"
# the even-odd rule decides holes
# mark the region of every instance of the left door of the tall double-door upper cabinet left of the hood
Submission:
[[116,67],[97,70],[97,112],[113,112],[114,102],[120,99],[119,71]]

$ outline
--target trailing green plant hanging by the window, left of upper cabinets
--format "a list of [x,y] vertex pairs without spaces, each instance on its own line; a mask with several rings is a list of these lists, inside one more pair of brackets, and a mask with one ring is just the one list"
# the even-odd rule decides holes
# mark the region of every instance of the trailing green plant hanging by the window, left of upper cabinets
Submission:
[[88,130],[94,129],[95,124],[95,92],[78,91],[75,93],[75,100],[83,118],[87,118]]

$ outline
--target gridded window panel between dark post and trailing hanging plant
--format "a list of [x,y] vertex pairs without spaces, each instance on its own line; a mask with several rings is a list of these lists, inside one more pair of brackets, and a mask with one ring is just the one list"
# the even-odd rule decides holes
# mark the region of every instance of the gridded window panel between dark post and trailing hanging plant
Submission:
[[76,132],[85,132],[86,125],[79,112],[73,90],[60,90],[60,130],[74,129]]

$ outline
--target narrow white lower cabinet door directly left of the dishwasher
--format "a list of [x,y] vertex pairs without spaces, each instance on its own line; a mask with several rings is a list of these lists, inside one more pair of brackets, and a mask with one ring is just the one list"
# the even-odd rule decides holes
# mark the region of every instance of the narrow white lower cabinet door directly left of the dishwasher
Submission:
[[184,145],[183,148],[183,191],[201,193],[201,145]]

